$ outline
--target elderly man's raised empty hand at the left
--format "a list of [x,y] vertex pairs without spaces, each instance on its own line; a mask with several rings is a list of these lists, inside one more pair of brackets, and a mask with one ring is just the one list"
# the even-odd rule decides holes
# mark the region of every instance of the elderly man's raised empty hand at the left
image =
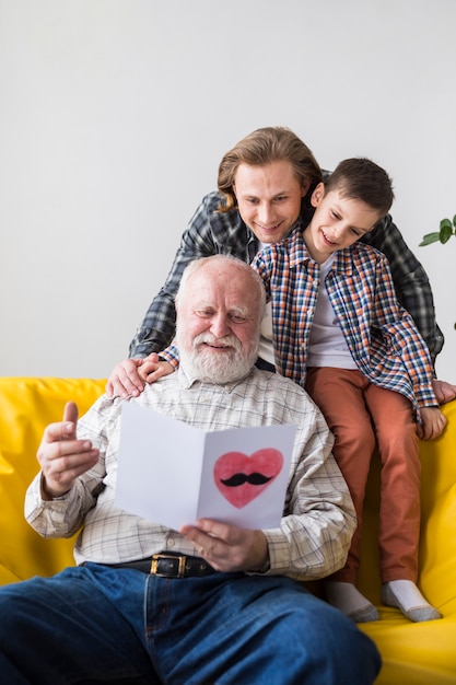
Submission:
[[100,450],[90,440],[77,440],[78,407],[67,403],[63,421],[50,423],[43,436],[37,458],[42,466],[42,497],[51,500],[71,489],[74,480],[95,466]]

